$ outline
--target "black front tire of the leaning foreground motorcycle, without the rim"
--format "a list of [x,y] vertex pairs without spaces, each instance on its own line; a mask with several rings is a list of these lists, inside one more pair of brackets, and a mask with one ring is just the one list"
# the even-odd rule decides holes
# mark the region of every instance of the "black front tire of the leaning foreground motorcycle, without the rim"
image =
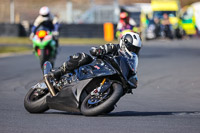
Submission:
[[81,104],[81,113],[86,116],[96,116],[100,114],[106,114],[111,112],[115,106],[115,104],[118,102],[120,97],[123,94],[122,86],[118,83],[113,83],[110,88],[110,92],[108,94],[108,97],[102,101],[102,103],[98,105],[94,105],[91,107],[91,105],[88,103],[89,99],[92,97],[91,94],[89,94],[82,102]]

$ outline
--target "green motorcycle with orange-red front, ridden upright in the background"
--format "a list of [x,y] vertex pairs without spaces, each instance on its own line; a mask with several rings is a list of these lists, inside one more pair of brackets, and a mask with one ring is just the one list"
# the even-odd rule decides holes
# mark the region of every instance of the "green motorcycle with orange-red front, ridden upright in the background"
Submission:
[[44,26],[38,27],[32,42],[35,56],[40,59],[41,68],[45,61],[50,61],[54,65],[57,47],[51,30]]

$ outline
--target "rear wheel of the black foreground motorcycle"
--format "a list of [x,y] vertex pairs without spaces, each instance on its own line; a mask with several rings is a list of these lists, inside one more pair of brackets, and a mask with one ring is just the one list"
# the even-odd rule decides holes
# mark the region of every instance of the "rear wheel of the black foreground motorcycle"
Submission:
[[49,109],[46,97],[50,95],[50,93],[46,93],[42,97],[33,98],[34,92],[36,88],[31,88],[24,98],[24,107],[30,113],[43,113]]

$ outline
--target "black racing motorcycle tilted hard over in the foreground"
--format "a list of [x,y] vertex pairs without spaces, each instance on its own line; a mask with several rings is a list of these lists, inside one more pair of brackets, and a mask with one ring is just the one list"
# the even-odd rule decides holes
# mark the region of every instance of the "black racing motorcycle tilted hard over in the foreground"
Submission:
[[48,74],[52,66],[47,61],[44,79],[25,96],[25,109],[30,113],[56,109],[86,116],[107,114],[123,95],[132,92],[129,75],[133,71],[128,63],[125,57],[104,55],[55,81]]

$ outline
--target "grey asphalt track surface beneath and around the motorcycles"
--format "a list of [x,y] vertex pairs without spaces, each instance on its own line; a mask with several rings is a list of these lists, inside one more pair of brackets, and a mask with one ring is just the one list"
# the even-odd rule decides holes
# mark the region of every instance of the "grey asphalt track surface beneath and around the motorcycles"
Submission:
[[[62,46],[56,66],[90,46]],[[49,110],[30,114],[23,100],[42,79],[32,54],[0,58],[0,133],[199,133],[200,40],[143,45],[139,86],[116,109],[98,117]]]

